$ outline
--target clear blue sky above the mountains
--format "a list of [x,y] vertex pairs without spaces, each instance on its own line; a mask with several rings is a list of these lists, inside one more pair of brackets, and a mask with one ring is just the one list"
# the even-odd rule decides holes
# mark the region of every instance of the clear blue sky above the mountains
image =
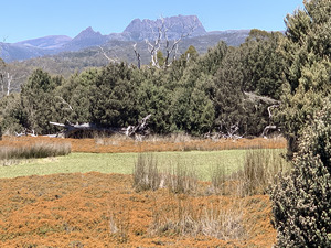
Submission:
[[1,0],[0,42],[76,36],[92,26],[120,33],[131,20],[197,15],[206,31],[285,30],[302,0]]

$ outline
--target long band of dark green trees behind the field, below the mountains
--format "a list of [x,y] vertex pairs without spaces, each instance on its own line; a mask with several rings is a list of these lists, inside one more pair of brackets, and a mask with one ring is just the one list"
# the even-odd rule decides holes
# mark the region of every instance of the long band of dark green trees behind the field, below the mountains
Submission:
[[[254,63],[276,56],[281,37],[255,30],[239,47],[220,42],[199,55],[190,46],[163,68],[110,63],[68,79],[36,69],[19,95],[1,99],[1,126],[9,132],[29,129],[44,134],[56,131],[49,121],[118,128],[151,114],[149,127],[154,133],[259,136],[269,122],[268,103],[252,99],[246,91],[279,98],[279,77],[267,72],[281,63],[274,65],[270,60],[271,65],[264,67]],[[162,56],[158,54],[160,62]]]

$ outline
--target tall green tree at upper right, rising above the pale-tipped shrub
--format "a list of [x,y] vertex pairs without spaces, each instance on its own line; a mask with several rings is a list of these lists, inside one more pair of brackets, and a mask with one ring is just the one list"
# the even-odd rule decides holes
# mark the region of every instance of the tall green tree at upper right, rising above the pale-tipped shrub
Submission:
[[331,2],[305,1],[305,10],[287,17],[287,39],[281,44],[286,63],[280,111],[289,140],[289,157],[323,98],[331,94]]

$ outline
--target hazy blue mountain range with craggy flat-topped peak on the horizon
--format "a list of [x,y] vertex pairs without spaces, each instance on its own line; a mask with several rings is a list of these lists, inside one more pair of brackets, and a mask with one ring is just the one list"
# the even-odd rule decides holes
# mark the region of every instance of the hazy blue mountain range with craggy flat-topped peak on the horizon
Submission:
[[66,35],[51,35],[18,43],[0,43],[0,57],[6,62],[13,62],[76,52],[95,46],[111,48],[111,44],[117,41],[131,46],[131,42],[141,43],[145,40],[154,40],[158,35],[158,29],[162,25],[167,28],[169,40],[175,40],[190,33],[188,39],[195,39],[197,43],[205,44],[202,50],[214,45],[214,42],[210,43],[209,41],[215,40],[224,40],[228,45],[236,46],[242,44],[249,34],[249,30],[206,32],[196,15],[177,15],[157,20],[135,19],[122,33],[103,35],[89,26],[74,39]]

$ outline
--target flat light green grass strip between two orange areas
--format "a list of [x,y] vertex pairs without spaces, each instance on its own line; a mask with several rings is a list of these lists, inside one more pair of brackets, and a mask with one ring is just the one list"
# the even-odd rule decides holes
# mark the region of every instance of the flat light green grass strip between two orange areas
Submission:
[[[279,153],[282,149],[277,150]],[[200,180],[210,181],[211,170],[224,165],[228,173],[243,165],[247,150],[153,152],[161,169],[178,163],[196,169]],[[55,173],[102,172],[131,174],[138,153],[71,153],[66,157],[25,160],[19,164],[0,166],[0,177],[49,175]]]

